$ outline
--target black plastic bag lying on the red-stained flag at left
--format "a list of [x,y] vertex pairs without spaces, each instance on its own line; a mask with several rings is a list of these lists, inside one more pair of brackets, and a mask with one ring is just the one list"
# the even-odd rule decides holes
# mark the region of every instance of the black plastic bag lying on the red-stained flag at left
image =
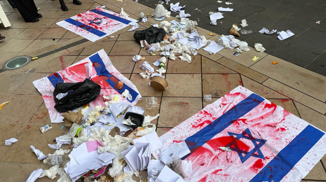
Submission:
[[[92,80],[85,79],[84,82],[78,83],[58,83],[53,91],[55,99],[55,108],[60,113],[74,110],[95,100],[100,94],[101,87]],[[60,100],[57,95],[60,93],[67,93]]]

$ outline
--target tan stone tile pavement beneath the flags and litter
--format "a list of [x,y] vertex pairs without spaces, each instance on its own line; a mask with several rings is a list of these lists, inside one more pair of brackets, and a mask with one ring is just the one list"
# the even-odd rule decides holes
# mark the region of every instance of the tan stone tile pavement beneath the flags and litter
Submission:
[[[53,150],[48,148],[47,144],[67,132],[66,129],[60,130],[62,124],[53,124],[53,128],[45,133],[39,131],[39,128],[50,120],[43,98],[32,82],[78,62],[100,49],[106,51],[114,66],[133,82],[142,96],[157,97],[157,110],[147,110],[145,100],[139,101],[137,105],[145,108],[145,115],[160,114],[160,117],[153,121],[158,126],[159,135],[207,105],[208,103],[203,101],[203,95],[211,94],[213,102],[238,85],[281,105],[290,113],[326,131],[326,77],[313,71],[267,53],[258,53],[252,48],[239,56],[233,56],[234,50],[230,49],[223,49],[212,55],[200,49],[199,54],[193,56],[192,63],[181,61],[179,58],[168,60],[166,79],[169,86],[166,91],[157,92],[148,86],[149,80],[139,76],[139,72],[142,72],[139,65],[143,61],[151,64],[160,56],[150,56],[147,51],[141,50],[132,37],[133,32],[127,32],[130,27],[113,34],[117,35],[116,38],[109,39],[113,35],[108,35],[92,43],[55,24],[99,5],[105,5],[115,12],[120,12],[123,7],[129,17],[134,19],[139,19],[141,11],[145,14],[152,13],[152,8],[131,0],[83,0],[82,6],[75,6],[72,1],[68,1],[66,5],[70,10],[62,12],[58,1],[35,2],[41,8],[43,18],[40,22],[25,23],[7,1],[0,1],[13,24],[11,29],[0,28],[0,33],[6,36],[6,40],[0,42],[0,64],[18,55],[34,57],[51,53],[22,68],[0,72],[0,103],[11,101],[0,111],[0,128],[3,131],[0,133],[1,182],[25,181],[33,170],[49,168],[50,166],[36,159],[29,145],[34,145],[44,154],[52,153]],[[167,18],[168,21],[173,19],[176,18]],[[153,18],[148,21],[139,23],[139,29],[150,27],[151,23],[159,23]],[[218,34],[209,37],[210,30],[200,27],[198,29],[200,35],[205,35],[210,40],[218,40]],[[135,54],[146,59],[135,63],[131,59]],[[252,61],[254,56],[259,57],[259,60]],[[274,60],[279,63],[271,64]],[[4,140],[11,137],[17,138],[18,142],[6,146]],[[63,149],[67,149],[67,146]],[[326,181],[325,163],[324,156],[303,181]],[[52,180],[44,177],[38,180],[40,181]]]

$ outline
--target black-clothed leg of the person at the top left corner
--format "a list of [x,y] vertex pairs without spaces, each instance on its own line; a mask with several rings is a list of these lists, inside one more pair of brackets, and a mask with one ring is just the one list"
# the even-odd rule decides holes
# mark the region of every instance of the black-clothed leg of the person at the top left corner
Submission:
[[13,0],[13,2],[25,22],[39,21],[35,16],[37,14],[37,8],[33,0]]

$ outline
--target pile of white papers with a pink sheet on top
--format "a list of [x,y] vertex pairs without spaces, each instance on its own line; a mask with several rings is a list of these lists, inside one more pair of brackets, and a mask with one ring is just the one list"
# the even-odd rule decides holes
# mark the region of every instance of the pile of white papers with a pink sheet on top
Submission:
[[116,155],[108,152],[99,154],[97,152],[99,146],[103,147],[103,144],[97,140],[84,142],[68,155],[70,162],[67,163],[65,171],[73,182],[89,170],[97,170],[112,163]]

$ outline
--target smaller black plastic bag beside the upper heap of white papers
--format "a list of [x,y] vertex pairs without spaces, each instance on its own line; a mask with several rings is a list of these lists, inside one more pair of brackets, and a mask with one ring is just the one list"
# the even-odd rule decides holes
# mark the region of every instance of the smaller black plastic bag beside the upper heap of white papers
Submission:
[[167,33],[163,28],[156,28],[154,26],[147,28],[146,30],[138,30],[133,34],[133,38],[140,43],[145,40],[148,44],[155,44],[163,41]]

